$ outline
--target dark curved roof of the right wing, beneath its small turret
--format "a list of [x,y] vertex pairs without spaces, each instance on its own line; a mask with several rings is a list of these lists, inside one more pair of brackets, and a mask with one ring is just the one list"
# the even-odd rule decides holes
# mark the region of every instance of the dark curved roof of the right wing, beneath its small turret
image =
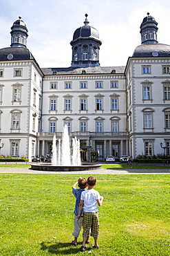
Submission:
[[170,46],[168,44],[141,44],[136,47],[132,57],[153,57],[153,52],[158,53],[158,57],[170,57]]

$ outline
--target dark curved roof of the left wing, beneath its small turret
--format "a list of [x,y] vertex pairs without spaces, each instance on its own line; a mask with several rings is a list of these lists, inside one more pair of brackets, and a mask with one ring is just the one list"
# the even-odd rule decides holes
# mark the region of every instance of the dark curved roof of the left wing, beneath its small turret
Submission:
[[24,47],[8,47],[0,49],[0,61],[9,60],[7,57],[9,54],[13,55],[11,60],[31,60],[34,59],[28,48]]

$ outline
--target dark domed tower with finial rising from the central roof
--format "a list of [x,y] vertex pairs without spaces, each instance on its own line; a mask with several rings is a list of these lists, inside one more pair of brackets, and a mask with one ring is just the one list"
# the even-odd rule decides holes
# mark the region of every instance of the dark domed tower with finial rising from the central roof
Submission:
[[87,67],[100,66],[99,50],[102,44],[99,40],[98,30],[89,26],[85,15],[84,26],[74,32],[72,42],[72,66]]

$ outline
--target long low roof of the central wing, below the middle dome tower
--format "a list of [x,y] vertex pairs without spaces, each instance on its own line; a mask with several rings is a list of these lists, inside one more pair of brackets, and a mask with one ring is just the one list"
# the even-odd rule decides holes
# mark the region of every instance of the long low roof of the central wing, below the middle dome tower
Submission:
[[[75,68],[70,66],[69,68],[41,68],[44,75],[78,75],[85,73],[86,74],[111,74],[111,73],[124,73],[125,66],[92,66],[87,68]],[[114,72],[115,71],[115,72]]]

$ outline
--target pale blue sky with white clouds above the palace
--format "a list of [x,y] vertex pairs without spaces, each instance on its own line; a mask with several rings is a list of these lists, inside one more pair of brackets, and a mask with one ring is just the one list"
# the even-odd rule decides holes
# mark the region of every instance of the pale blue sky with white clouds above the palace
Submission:
[[10,28],[19,16],[28,28],[27,47],[39,66],[67,67],[72,61],[76,28],[99,32],[100,66],[125,66],[140,45],[140,24],[147,12],[158,22],[158,42],[170,44],[169,0],[0,0],[0,48],[10,46]]

